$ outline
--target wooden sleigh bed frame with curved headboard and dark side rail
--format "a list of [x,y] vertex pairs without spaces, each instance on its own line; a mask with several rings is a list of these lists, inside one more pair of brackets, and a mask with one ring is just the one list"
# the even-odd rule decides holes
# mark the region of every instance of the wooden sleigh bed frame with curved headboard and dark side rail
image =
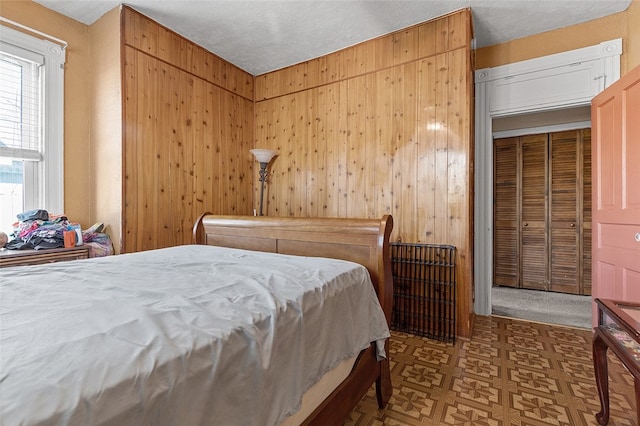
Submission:
[[[279,218],[202,214],[193,227],[196,244],[300,256],[329,257],[364,265],[371,275],[387,323],[391,320],[393,283],[389,235],[393,219]],[[387,355],[389,344],[385,345]],[[305,425],[340,424],[376,384],[380,408],[391,398],[389,360],[376,360],[375,344],[363,350],[349,376],[304,421]]]

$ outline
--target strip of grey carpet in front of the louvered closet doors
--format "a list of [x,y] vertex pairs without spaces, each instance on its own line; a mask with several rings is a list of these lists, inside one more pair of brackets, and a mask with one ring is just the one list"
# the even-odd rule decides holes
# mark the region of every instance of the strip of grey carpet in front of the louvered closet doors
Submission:
[[492,314],[591,329],[591,296],[493,287]]

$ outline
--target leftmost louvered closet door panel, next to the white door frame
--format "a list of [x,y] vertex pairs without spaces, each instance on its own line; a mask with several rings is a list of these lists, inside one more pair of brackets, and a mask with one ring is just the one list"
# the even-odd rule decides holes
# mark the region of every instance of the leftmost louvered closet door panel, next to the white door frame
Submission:
[[518,138],[494,146],[494,285],[519,286]]

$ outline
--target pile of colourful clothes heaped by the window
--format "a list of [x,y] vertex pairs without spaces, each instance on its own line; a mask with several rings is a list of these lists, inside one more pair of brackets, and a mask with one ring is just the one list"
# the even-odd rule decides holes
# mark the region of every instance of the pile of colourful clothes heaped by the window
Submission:
[[[65,215],[50,215],[42,209],[20,213],[18,222],[13,225],[10,240],[6,248],[9,250],[43,250],[64,247],[64,232],[79,225],[70,222]],[[109,236],[103,232],[104,225],[96,223],[82,231],[82,243],[91,247],[90,257],[113,254],[113,244]]]

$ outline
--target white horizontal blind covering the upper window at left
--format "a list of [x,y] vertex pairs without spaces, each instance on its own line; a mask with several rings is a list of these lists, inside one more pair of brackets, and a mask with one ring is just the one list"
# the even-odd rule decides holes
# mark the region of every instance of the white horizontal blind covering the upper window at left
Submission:
[[42,64],[34,52],[0,43],[0,157],[42,159]]

